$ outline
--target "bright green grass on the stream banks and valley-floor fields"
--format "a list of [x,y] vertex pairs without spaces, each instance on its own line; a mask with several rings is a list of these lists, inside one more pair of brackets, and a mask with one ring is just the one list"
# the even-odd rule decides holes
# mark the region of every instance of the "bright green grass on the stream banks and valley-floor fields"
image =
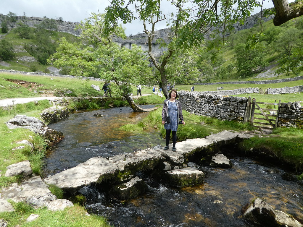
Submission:
[[[73,94],[78,97],[86,96],[102,96],[103,92],[97,92],[90,87],[91,84],[102,86],[103,83],[97,84],[96,81],[85,81],[80,79],[68,79],[61,77],[52,77],[47,76],[29,76],[29,75],[18,75],[18,74],[0,74],[0,85],[5,88],[0,87],[0,96],[1,97],[31,97],[37,96],[35,93],[30,92],[27,88],[18,87],[13,82],[4,80],[4,79],[18,79],[29,82],[35,82],[39,84],[38,87],[41,90],[72,90]],[[301,82],[301,81],[299,81]],[[295,83],[299,83],[298,81]],[[297,84],[291,84],[291,82],[275,84],[277,87],[291,87]],[[13,87],[15,86],[15,87]],[[177,85],[176,87],[182,87],[184,85]],[[228,84],[228,87],[225,86],[225,89],[232,90],[242,85]],[[266,85],[269,86],[269,85]],[[202,90],[216,90],[217,85],[197,85],[195,86],[196,91]],[[189,87],[190,88],[190,87]],[[133,88],[136,91],[136,87]],[[179,89],[180,90],[180,89]],[[143,94],[150,94],[151,89],[149,87],[142,87]],[[134,92],[135,94],[135,92]],[[246,94],[244,94],[246,95]],[[250,94],[251,95],[251,94]],[[288,101],[299,101],[302,100],[302,93],[297,94],[287,94],[287,95],[261,95],[253,94],[258,101],[263,102],[274,102],[273,98],[278,100],[281,99],[283,102]],[[137,104],[161,104],[164,100],[164,97],[161,98],[156,95],[142,96],[135,99]],[[113,97],[109,99],[106,105],[113,103],[114,106],[125,105],[125,101],[121,97]],[[99,105],[95,103],[71,103],[70,106],[85,107],[85,108],[100,108]],[[27,103],[27,104],[16,104],[11,108],[5,109],[0,108],[0,131],[1,138],[0,140],[0,171],[2,177],[0,177],[0,189],[8,187],[11,183],[19,182],[21,180],[20,176],[15,177],[5,177],[4,173],[6,167],[10,164],[17,163],[23,160],[29,160],[33,171],[36,174],[42,175],[41,167],[42,160],[45,156],[45,143],[41,137],[36,136],[33,132],[30,132],[25,129],[15,129],[9,130],[4,124],[10,118],[14,117],[16,114],[25,114],[27,116],[33,116],[39,118],[41,111],[45,108],[48,108],[49,102],[47,100],[38,101],[38,104]],[[214,118],[209,118],[205,116],[197,116],[190,114],[186,111],[183,111],[183,116],[185,120],[185,125],[180,125],[177,132],[178,141],[186,140],[190,138],[204,138],[212,133],[218,133],[222,130],[251,130],[250,125],[237,123],[234,121],[220,121]],[[121,129],[128,130],[132,132],[144,132],[145,129],[151,126],[155,129],[158,129],[161,133],[161,136],[165,137],[165,129],[161,124],[161,108],[158,110],[152,111],[149,113],[148,117],[140,121],[137,125],[125,125]],[[294,128],[286,129],[276,129],[273,132],[278,135],[278,137],[264,137],[264,138],[252,138],[251,140],[246,140],[246,144],[243,144],[245,149],[250,149],[255,147],[256,149],[266,148],[268,151],[275,152],[275,155],[278,156],[281,160],[286,160],[293,166],[296,166],[301,170],[303,162],[303,136],[302,130]],[[30,147],[25,146],[25,149],[14,150],[12,149],[17,145],[16,142],[22,141],[24,139],[29,140],[35,146],[34,150],[31,150]],[[62,192],[54,186],[49,186],[50,190],[58,196],[62,197]],[[28,209],[26,204],[14,204],[16,207],[16,212],[11,213],[0,213],[0,219],[3,218],[8,221],[8,226],[84,226],[87,224],[92,224],[96,226],[109,226],[106,220],[102,217],[91,215],[85,215],[86,211],[83,207],[75,205],[74,207],[67,208],[62,212],[49,212],[47,209],[38,209],[35,210],[36,214],[39,214],[40,217],[34,222],[25,222],[25,219],[32,214],[31,209]],[[84,224],[85,223],[85,224]]]

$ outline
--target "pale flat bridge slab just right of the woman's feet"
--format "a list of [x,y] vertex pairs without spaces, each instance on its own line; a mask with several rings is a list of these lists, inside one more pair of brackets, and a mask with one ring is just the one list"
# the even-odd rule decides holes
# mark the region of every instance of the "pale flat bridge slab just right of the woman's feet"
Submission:
[[[182,142],[176,143],[176,153],[188,157],[190,154],[198,152],[199,150],[207,149],[214,144],[215,141],[211,139],[197,138],[188,139]],[[171,149],[172,144],[169,149]]]

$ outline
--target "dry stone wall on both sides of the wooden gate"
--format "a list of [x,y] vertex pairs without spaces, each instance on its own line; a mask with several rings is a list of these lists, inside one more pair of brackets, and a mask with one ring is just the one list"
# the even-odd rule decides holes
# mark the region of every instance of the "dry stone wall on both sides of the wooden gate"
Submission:
[[[247,117],[246,97],[225,97],[203,92],[178,92],[182,109],[196,115],[215,117],[219,120],[235,120],[243,122]],[[303,107],[301,102],[281,103],[278,114],[278,127],[303,128]]]

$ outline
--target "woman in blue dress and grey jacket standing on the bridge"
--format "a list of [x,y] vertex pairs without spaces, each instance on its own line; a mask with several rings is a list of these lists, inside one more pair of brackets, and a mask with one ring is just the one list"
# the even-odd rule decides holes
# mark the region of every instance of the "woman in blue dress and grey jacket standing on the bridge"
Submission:
[[175,89],[172,89],[168,95],[168,99],[164,101],[162,108],[162,125],[166,129],[166,146],[164,150],[168,150],[168,143],[170,139],[170,133],[172,133],[172,151],[176,151],[176,141],[177,141],[177,129],[179,126],[179,119],[182,121],[182,124],[185,125],[182,114],[181,103],[178,98],[178,93]]

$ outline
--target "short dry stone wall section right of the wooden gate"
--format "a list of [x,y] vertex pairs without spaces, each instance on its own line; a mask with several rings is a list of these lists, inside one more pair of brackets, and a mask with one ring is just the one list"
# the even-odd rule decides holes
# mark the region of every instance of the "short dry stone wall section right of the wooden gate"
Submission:
[[278,127],[303,128],[303,107],[299,102],[281,103]]

